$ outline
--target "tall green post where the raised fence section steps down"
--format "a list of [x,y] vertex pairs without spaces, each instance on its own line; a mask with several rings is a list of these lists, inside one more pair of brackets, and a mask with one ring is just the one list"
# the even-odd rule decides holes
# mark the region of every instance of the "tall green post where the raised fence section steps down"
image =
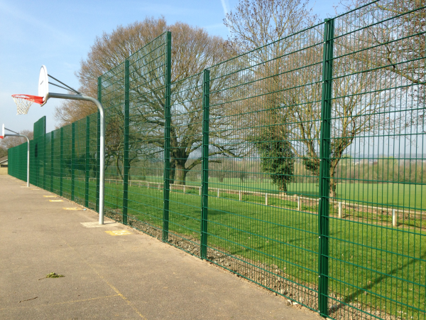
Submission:
[[164,127],[164,189],[163,189],[163,242],[168,242],[169,191],[170,191],[170,82],[172,65],[172,34],[167,33],[167,55],[165,68],[165,127]]

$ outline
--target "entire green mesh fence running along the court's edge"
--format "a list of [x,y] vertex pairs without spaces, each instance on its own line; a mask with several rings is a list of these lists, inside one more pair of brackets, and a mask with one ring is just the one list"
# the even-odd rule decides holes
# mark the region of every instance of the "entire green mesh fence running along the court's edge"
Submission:
[[[425,319],[425,19],[374,1],[175,82],[155,38],[99,78],[106,215],[329,319]],[[98,114],[30,149],[99,208]]]

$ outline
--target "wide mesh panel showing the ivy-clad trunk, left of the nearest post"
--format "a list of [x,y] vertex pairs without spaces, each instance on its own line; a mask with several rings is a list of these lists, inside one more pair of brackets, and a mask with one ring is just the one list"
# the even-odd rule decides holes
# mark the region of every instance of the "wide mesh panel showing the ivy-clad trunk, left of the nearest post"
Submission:
[[207,259],[315,310],[323,30],[209,68]]

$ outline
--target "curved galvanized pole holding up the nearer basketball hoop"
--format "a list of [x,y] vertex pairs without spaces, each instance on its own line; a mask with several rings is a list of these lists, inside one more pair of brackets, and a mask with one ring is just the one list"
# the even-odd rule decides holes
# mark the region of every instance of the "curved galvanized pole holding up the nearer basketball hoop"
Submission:
[[104,224],[104,183],[105,183],[105,114],[104,106],[94,97],[85,95],[65,95],[62,93],[49,92],[46,99],[49,98],[83,100],[93,102],[97,106],[100,114],[100,168],[99,168],[99,225]]

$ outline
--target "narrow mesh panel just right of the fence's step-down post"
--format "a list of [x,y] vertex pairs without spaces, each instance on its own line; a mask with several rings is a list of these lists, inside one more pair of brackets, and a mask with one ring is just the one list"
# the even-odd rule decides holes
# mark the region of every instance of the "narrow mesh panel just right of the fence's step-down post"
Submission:
[[200,255],[203,74],[173,82],[170,121],[170,242]]

